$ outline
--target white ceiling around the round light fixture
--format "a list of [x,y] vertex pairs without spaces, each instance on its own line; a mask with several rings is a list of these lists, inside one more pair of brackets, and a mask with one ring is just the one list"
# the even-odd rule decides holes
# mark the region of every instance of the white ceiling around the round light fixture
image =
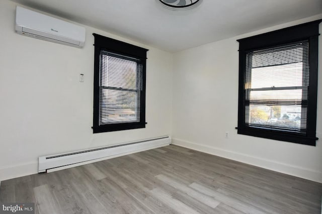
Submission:
[[158,0],[12,1],[168,52],[322,13],[321,0],[202,0],[185,11]]

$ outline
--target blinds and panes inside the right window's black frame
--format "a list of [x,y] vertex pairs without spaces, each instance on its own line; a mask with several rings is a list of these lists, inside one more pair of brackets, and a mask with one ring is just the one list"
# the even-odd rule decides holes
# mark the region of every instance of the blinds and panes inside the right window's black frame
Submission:
[[308,41],[246,53],[246,126],[305,134]]

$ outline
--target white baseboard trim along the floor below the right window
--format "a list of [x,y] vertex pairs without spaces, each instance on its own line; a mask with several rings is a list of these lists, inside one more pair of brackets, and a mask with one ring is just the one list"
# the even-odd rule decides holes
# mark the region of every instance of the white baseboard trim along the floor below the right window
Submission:
[[172,138],[172,144],[322,183],[322,172]]

